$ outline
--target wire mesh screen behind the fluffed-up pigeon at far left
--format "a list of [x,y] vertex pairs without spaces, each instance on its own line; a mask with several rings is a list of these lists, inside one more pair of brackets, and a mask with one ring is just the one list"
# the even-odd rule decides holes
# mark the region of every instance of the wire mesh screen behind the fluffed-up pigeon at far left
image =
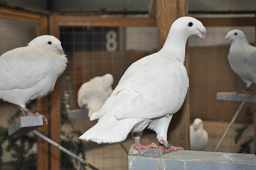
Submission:
[[[36,24],[0,18],[0,55],[8,50],[26,46],[35,37]],[[32,112],[36,111],[35,104],[28,104]],[[22,116],[20,109],[14,104],[0,100],[0,112],[0,170],[36,169],[36,136],[32,133],[8,136],[8,126]]]

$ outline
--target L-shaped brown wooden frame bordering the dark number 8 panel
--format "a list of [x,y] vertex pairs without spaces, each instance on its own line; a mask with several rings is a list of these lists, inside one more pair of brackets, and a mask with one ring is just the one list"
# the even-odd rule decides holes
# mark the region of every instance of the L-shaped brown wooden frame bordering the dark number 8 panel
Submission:
[[[74,16],[52,14],[50,16],[50,34],[59,38],[60,26],[156,26],[154,18],[139,17],[107,17],[103,16]],[[51,92],[51,114],[50,120],[50,137],[55,142],[60,142],[60,79],[57,80],[54,90]],[[54,157],[51,159],[50,169],[60,169],[60,151],[54,146],[50,146],[51,153]]]

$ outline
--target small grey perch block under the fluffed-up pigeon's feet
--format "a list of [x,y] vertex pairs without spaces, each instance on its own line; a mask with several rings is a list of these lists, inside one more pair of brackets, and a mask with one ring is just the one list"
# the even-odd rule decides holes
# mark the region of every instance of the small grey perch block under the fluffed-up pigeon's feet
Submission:
[[8,127],[8,135],[22,135],[43,125],[42,115],[22,116]]

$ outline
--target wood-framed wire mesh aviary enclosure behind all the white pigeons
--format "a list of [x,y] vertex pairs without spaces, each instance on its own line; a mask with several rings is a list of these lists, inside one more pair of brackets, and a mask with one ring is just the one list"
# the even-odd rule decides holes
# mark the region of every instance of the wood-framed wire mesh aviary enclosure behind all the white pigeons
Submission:
[[[215,11],[202,10],[200,3],[193,6],[192,0],[175,1],[172,5],[162,0],[158,0],[158,5],[155,0],[141,3],[146,10],[62,8],[51,12],[8,3],[0,7],[0,55],[26,46],[43,34],[54,35],[62,42],[68,57],[66,71],[58,78],[51,94],[30,105],[49,120],[48,125],[38,128],[39,132],[99,169],[127,169],[127,150],[134,140],[131,135],[116,144],[98,145],[78,140],[80,134],[97,122],[91,122],[87,116],[68,118],[68,110],[79,108],[78,89],[91,78],[106,73],[113,75],[114,89],[130,64],[160,49],[174,18],[184,15],[197,18],[206,26],[207,36],[205,40],[192,36],[187,43],[185,65],[190,88],[180,114],[174,116],[169,127],[172,144],[189,150],[189,125],[195,118],[201,118],[209,136],[205,150],[212,152],[240,104],[216,99],[217,92],[244,87],[228,64],[230,42],[224,37],[229,30],[240,29],[254,45],[255,10],[228,12],[217,7]],[[168,5],[173,10],[168,10]],[[8,136],[6,128],[21,114],[16,106],[2,100],[0,112],[0,169],[89,169],[32,133]],[[255,154],[255,115],[255,104],[246,103],[218,152]],[[141,142],[158,143],[156,134],[150,130],[145,130]]]

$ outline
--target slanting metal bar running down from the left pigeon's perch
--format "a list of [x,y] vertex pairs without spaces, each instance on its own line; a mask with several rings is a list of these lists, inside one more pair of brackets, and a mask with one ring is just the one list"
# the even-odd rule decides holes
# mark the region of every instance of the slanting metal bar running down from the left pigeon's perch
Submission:
[[67,150],[66,148],[64,148],[63,146],[61,146],[60,144],[54,142],[53,140],[51,140],[50,138],[44,136],[43,134],[39,133],[36,130],[32,131],[35,135],[39,136],[40,138],[44,139],[46,142],[52,144],[53,146],[57,147],[59,150],[62,150],[63,152],[65,152],[66,154],[68,154],[69,156],[75,158],[76,160],[78,160],[79,162],[81,162],[82,164],[89,166],[90,168],[92,168],[93,170],[99,170],[98,168],[96,168],[95,166],[93,166],[92,164],[86,162],[84,159],[80,158],[79,156],[75,155],[74,153],[70,152],[69,150]]

